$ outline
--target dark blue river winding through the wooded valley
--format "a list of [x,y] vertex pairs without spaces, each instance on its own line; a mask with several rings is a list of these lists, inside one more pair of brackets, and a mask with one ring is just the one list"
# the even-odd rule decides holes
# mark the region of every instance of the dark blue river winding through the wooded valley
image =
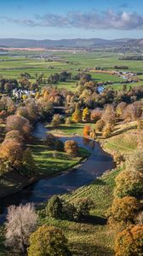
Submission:
[[[43,123],[35,125],[33,136],[44,138],[47,129]],[[34,202],[36,204],[47,201],[55,194],[65,194],[77,189],[85,184],[94,181],[95,177],[100,177],[106,170],[112,169],[115,165],[111,155],[100,148],[100,144],[83,137],[61,137],[62,141],[67,139],[75,140],[79,146],[87,148],[90,152],[88,160],[82,165],[60,173],[56,177],[44,177],[33,183],[15,195],[9,195],[0,200],[0,223],[3,223],[7,207],[9,205],[26,204]]]

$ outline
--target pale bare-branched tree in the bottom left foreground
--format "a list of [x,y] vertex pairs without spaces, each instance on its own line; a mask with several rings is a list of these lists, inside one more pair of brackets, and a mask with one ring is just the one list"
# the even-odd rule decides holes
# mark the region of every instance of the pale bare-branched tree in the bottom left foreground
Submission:
[[37,227],[37,213],[33,204],[10,206],[6,222],[6,246],[14,252],[24,253],[29,237]]

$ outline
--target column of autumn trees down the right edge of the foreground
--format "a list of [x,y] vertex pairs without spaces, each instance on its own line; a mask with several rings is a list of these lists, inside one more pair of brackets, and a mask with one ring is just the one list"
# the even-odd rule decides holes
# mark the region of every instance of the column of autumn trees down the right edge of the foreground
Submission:
[[116,179],[114,200],[108,212],[109,224],[116,227],[115,253],[141,255],[143,247],[143,150],[137,149],[129,155],[126,169]]

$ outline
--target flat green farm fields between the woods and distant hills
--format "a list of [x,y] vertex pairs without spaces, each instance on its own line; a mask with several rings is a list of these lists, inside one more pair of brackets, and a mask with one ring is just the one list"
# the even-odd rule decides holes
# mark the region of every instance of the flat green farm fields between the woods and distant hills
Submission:
[[[35,55],[43,55],[43,52],[22,52],[13,51],[9,55],[0,55],[0,76],[4,78],[20,79],[20,73],[30,73],[31,82],[36,79],[36,73],[43,73],[44,79],[48,79],[51,73],[60,73],[62,70],[76,74],[84,68],[101,67],[108,70],[114,70],[114,66],[128,66],[129,71],[143,72],[143,61],[122,61],[118,60],[120,55],[103,52],[44,52],[47,55],[59,56],[59,61],[44,61],[43,58],[37,59]],[[52,68],[51,68],[52,67]],[[105,73],[91,73],[92,79],[96,82],[111,81],[115,84],[112,87],[115,90],[121,90],[122,85],[117,84],[123,81],[115,75]],[[142,79],[142,76],[139,76]],[[75,90],[77,81],[67,81],[57,84],[59,88]],[[129,86],[140,85],[128,84]]]

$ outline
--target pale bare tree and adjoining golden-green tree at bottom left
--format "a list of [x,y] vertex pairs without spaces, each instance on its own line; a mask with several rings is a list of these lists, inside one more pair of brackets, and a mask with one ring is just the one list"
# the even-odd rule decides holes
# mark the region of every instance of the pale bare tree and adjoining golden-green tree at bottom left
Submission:
[[63,232],[54,226],[38,227],[32,204],[10,206],[5,224],[5,245],[14,255],[72,255]]

